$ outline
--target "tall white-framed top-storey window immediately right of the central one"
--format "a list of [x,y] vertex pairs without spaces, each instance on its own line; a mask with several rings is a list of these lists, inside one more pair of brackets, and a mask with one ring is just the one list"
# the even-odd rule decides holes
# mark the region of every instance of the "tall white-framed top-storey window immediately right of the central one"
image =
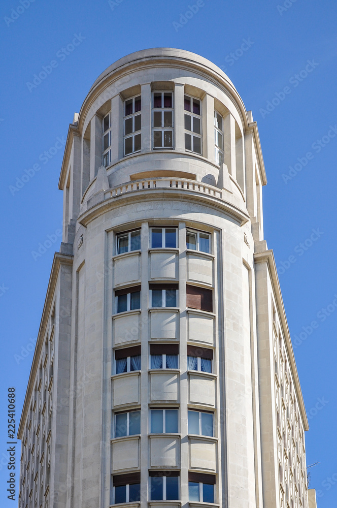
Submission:
[[[200,101],[185,96],[185,149],[201,153],[201,111]],[[186,113],[186,112],[189,113]]]

